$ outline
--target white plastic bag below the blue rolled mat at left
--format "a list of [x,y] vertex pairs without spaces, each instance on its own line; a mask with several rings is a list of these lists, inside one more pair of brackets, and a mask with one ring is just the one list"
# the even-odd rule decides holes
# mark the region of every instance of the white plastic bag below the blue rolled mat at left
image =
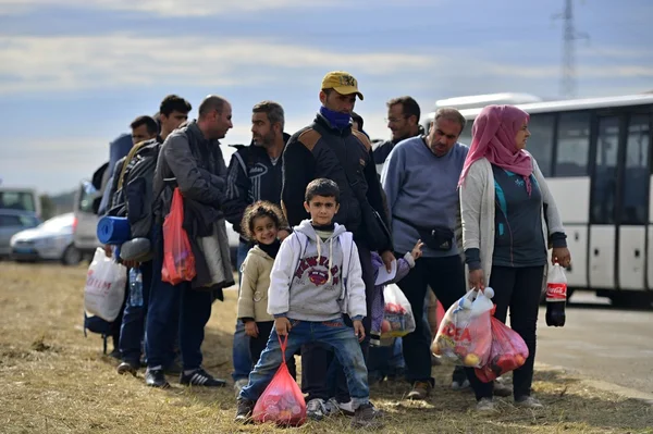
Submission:
[[125,300],[127,269],[108,258],[100,247],[96,249],[86,274],[84,309],[91,315],[112,322],[120,314]]

